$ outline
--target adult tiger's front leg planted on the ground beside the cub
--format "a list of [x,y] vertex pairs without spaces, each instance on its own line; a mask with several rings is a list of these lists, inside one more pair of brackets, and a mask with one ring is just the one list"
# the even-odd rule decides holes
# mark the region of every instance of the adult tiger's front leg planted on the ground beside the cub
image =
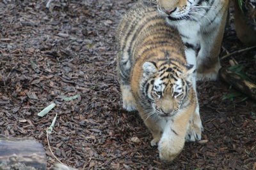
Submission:
[[[226,7],[227,4],[223,8]],[[219,54],[223,39],[227,9],[220,11],[219,18],[209,28],[202,29],[201,49],[197,57],[197,80],[217,80],[220,70]]]

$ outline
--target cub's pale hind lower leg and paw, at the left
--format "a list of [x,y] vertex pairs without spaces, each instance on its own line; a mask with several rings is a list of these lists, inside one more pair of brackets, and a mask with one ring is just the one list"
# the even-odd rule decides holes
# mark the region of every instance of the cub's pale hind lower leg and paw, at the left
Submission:
[[132,96],[130,85],[121,85],[123,108],[127,111],[136,110],[134,97]]

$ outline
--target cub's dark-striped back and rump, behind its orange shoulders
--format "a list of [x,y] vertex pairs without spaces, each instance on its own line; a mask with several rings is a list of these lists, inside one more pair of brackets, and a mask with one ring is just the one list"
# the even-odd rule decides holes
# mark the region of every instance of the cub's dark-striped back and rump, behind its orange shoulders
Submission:
[[130,81],[132,64],[149,49],[152,51],[153,48],[163,48],[164,50],[172,46],[173,55],[179,55],[180,60],[186,64],[184,45],[180,41],[179,33],[172,27],[168,27],[164,18],[156,13],[156,8],[147,6],[147,3],[137,3],[125,13],[117,34],[118,67],[125,84]]

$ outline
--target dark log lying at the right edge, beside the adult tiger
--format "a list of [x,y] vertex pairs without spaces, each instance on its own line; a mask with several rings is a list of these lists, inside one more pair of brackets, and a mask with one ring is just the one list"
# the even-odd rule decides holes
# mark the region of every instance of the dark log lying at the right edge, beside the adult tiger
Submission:
[[237,90],[239,90],[243,94],[246,94],[248,97],[256,100],[256,84],[255,83],[245,80],[241,76],[225,68],[220,69],[220,78],[223,81],[226,81],[227,83],[235,87]]

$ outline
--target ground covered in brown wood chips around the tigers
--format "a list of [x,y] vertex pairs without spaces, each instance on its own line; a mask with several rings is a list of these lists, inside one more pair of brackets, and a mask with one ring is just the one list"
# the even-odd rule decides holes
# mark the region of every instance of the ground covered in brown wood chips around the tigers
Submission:
[[[52,151],[79,169],[256,168],[256,103],[246,96],[223,100],[237,91],[221,80],[198,82],[203,141],[186,143],[172,164],[159,160],[138,114],[122,109],[115,71],[116,25],[133,2],[60,0],[48,9],[47,1],[1,1],[0,133],[40,141],[49,169],[58,161],[45,130],[56,114]],[[221,56],[246,48],[233,20]],[[250,51],[234,59],[256,80],[254,57]],[[228,59],[221,65],[228,67]],[[38,117],[51,103],[56,107]]]

